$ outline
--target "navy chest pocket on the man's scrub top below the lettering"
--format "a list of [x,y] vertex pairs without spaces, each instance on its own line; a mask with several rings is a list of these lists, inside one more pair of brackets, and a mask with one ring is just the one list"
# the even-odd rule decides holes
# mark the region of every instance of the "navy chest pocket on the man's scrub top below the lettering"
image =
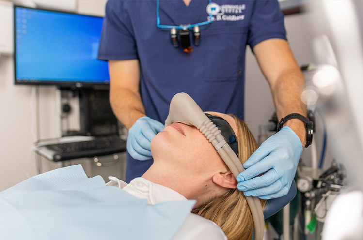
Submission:
[[237,81],[243,79],[248,28],[215,28],[205,31],[205,81]]

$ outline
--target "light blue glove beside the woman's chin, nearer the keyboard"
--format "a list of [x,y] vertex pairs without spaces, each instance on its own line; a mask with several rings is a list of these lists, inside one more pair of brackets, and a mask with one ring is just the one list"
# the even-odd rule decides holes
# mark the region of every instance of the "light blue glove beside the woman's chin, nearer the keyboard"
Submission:
[[163,130],[164,124],[149,117],[141,117],[128,130],[127,151],[137,160],[151,158],[150,141]]

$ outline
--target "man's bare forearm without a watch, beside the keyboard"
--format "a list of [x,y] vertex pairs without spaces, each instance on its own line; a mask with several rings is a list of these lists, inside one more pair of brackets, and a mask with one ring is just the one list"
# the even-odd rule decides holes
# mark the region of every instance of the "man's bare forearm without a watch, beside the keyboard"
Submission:
[[145,109],[138,92],[122,87],[111,88],[110,103],[117,119],[127,129],[130,129],[136,120],[145,116]]

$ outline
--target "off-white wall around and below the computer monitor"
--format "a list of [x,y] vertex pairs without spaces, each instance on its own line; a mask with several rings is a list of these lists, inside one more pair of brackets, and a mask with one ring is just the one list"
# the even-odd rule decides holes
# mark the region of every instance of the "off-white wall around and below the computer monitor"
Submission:
[[[103,15],[106,0],[78,0],[78,12]],[[0,0],[11,7],[11,3]],[[11,22],[9,22],[11,24]],[[0,33],[1,34],[1,33]],[[35,87],[14,85],[12,56],[0,58],[0,191],[36,174],[32,144],[60,135],[55,87],[39,87],[36,116]],[[36,130],[39,119],[39,135]]]

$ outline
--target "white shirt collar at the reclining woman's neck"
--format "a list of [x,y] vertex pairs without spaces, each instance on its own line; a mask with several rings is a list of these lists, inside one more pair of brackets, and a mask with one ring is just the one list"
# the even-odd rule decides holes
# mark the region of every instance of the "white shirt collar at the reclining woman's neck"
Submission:
[[129,184],[116,177],[109,177],[110,182],[106,185],[117,186],[137,198],[147,199],[149,204],[157,204],[164,201],[185,201],[183,195],[173,189],[156,184],[144,178],[135,178]]

